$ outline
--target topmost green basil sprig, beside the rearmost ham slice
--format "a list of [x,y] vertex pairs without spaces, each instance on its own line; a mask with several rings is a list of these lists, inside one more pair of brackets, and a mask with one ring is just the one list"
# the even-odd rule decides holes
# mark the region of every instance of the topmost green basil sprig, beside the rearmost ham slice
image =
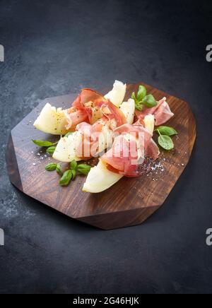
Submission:
[[143,109],[143,105],[146,105],[148,108],[155,107],[157,105],[157,101],[155,100],[155,97],[153,97],[152,94],[147,95],[147,90],[144,85],[139,85],[139,90],[136,94],[133,92],[131,94],[131,98],[136,103],[136,109],[141,111]]

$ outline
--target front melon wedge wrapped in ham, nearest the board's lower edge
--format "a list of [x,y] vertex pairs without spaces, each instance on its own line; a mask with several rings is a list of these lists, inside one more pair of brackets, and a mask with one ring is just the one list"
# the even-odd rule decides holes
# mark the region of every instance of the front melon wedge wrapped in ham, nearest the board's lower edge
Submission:
[[[122,177],[139,177],[151,170],[148,157],[158,158],[159,149],[151,138],[154,117],[149,114],[134,125],[124,124],[115,129],[112,149],[91,168],[83,191],[99,193],[109,189]],[[138,138],[139,132],[142,138]],[[120,135],[121,134],[121,135]]]

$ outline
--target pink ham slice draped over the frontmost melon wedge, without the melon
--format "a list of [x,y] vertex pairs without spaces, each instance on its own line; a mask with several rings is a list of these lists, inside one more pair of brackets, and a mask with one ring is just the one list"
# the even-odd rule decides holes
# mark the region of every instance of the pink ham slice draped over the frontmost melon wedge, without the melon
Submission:
[[114,138],[112,148],[100,158],[107,169],[125,177],[139,177],[143,174],[145,158],[158,158],[159,149],[152,135],[136,122],[134,125],[124,124],[114,130],[118,134]]

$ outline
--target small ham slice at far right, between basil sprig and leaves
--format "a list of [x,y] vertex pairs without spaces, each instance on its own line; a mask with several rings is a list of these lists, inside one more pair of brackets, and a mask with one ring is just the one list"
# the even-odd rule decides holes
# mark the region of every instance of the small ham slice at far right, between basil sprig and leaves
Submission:
[[170,110],[170,106],[166,101],[166,97],[163,97],[162,100],[159,100],[158,105],[153,108],[143,107],[141,112],[136,110],[136,117],[138,119],[144,119],[146,115],[153,114],[155,117],[155,125],[162,125],[167,122],[174,114]]

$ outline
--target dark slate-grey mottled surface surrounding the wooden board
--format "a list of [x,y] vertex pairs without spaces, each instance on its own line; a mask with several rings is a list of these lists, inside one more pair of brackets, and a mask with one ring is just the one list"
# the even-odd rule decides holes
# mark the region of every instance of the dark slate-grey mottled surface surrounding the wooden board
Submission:
[[[212,292],[211,1],[0,1],[0,292]],[[163,208],[102,231],[21,194],[8,134],[45,97],[144,81],[190,102],[196,146]],[[80,204],[79,204],[80,206]]]

